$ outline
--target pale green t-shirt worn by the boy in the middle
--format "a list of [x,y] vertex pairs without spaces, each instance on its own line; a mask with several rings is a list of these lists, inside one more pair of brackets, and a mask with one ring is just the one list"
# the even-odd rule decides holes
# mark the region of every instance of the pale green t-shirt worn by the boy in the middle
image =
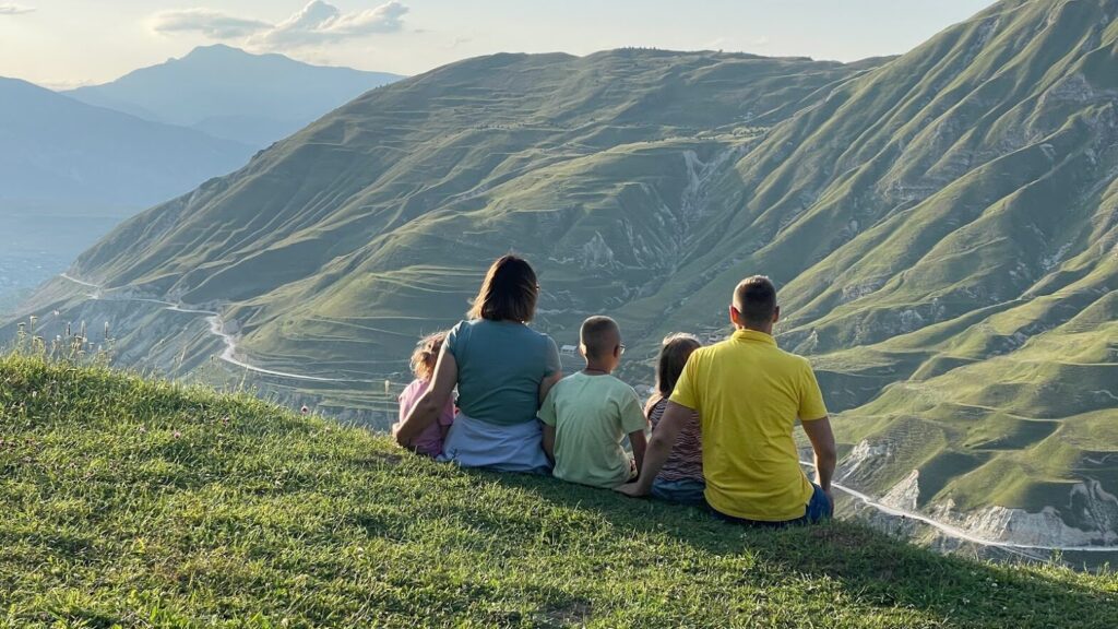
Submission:
[[632,386],[582,372],[551,387],[540,420],[556,428],[556,478],[603,488],[629,479],[622,439],[648,426]]

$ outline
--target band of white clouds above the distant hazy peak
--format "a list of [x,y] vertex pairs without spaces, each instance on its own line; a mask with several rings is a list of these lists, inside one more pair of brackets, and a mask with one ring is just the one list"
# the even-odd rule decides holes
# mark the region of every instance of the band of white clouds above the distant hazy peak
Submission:
[[348,13],[324,0],[311,0],[280,24],[197,8],[155,13],[151,28],[163,34],[200,32],[210,39],[237,39],[250,48],[275,50],[397,32],[404,29],[407,12],[408,8],[397,0]]

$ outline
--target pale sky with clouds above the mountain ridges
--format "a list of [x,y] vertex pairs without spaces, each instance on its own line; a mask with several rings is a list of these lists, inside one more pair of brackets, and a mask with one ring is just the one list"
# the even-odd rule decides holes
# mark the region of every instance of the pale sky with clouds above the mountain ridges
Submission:
[[991,0],[0,0],[0,76],[105,83],[222,43],[419,74],[499,51],[624,46],[842,62],[908,51]]

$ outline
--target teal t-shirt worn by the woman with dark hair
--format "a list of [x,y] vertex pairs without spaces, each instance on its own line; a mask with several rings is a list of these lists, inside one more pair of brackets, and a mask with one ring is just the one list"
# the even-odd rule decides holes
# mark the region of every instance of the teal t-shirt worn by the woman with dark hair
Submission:
[[446,348],[458,365],[458,409],[491,424],[534,421],[540,382],[561,369],[551,337],[514,321],[462,321]]

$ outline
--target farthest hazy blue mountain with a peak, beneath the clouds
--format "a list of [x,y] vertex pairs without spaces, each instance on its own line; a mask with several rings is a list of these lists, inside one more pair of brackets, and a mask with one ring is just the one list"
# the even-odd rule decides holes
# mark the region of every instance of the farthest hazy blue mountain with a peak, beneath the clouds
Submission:
[[263,148],[358,95],[399,78],[395,74],[312,66],[283,55],[253,55],[215,45],[66,94],[93,105]]

